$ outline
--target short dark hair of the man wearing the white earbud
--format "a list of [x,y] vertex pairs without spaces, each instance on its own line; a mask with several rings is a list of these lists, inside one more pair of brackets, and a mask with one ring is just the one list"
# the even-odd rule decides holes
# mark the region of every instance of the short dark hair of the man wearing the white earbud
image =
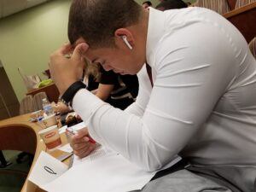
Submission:
[[84,38],[93,48],[113,47],[114,32],[138,23],[142,7],[133,0],[73,0],[69,11],[68,38]]

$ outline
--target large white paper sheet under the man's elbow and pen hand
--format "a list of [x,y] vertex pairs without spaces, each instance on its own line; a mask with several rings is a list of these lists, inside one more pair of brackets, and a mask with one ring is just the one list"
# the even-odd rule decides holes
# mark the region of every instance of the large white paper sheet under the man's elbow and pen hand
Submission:
[[143,189],[154,177],[155,172],[145,172],[120,154],[101,149],[42,188],[51,192],[127,192]]

